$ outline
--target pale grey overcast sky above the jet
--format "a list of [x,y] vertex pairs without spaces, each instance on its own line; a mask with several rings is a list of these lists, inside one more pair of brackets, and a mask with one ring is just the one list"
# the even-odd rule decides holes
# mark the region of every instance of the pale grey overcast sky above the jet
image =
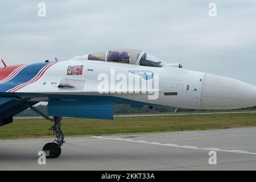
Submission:
[[[40,2],[46,17],[38,16]],[[212,2],[216,18],[208,15]],[[135,48],[256,85],[255,0],[0,0],[0,7],[0,58],[7,65]]]

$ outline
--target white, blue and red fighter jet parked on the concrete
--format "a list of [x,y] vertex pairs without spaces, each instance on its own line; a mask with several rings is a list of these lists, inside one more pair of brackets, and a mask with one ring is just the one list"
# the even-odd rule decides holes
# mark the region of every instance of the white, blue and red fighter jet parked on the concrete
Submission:
[[[55,60],[13,66],[2,61],[0,68],[0,126],[28,108],[53,122],[56,140],[43,147],[47,158],[61,154],[62,117],[113,119],[114,104],[208,110],[256,105],[253,85],[191,71],[145,51],[113,49]],[[48,115],[34,107],[42,101]]]

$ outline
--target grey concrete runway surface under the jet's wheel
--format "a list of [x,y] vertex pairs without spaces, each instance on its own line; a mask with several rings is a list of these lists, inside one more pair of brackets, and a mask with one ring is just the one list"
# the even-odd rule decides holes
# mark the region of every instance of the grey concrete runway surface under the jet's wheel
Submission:
[[38,151],[53,139],[0,140],[0,170],[255,170],[255,139],[256,127],[73,137],[46,165]]

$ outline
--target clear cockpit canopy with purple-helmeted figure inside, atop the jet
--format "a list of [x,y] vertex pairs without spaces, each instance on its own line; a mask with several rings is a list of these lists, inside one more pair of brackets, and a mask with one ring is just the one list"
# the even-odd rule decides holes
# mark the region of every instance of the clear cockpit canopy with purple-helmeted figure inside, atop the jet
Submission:
[[92,53],[88,55],[88,60],[134,64],[146,67],[162,67],[167,64],[158,57],[136,49],[112,49],[109,51]]

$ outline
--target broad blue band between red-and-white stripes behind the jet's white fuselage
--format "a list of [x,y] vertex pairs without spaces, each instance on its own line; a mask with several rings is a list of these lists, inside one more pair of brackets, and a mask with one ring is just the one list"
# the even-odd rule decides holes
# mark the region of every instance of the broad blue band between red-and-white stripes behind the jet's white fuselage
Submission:
[[28,65],[23,68],[15,77],[11,80],[0,84],[0,92],[6,92],[7,90],[13,89],[15,86],[24,84],[34,78],[39,71],[46,66],[48,63],[36,63]]

